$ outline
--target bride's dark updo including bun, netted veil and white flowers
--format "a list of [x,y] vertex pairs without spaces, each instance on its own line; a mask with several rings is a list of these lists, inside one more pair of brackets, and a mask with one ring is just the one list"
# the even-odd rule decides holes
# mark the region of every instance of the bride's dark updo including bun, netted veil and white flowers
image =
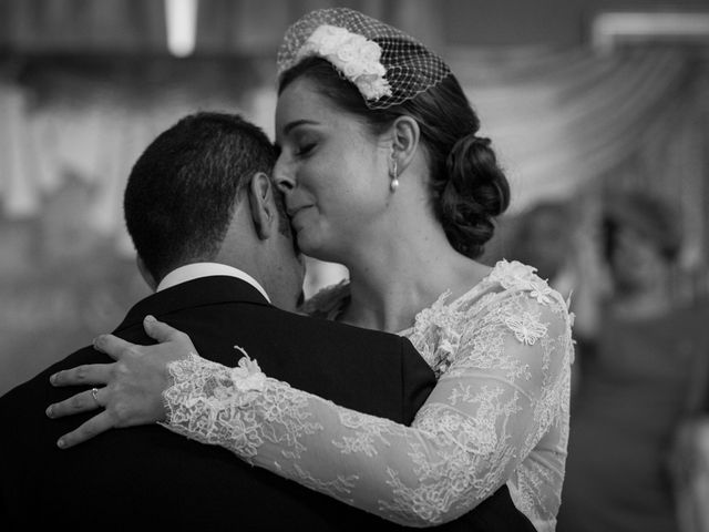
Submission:
[[294,23],[278,52],[278,92],[296,79],[374,134],[413,117],[425,147],[433,209],[451,245],[479,257],[494,218],[510,204],[510,185],[491,141],[448,65],[420,42],[347,8],[312,11]]

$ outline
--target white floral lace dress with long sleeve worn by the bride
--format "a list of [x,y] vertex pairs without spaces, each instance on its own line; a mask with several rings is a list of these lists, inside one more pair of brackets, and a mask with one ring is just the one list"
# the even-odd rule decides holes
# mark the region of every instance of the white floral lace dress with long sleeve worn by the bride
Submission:
[[567,305],[506,262],[449,297],[402,331],[439,379],[411,427],[296,390],[247,358],[232,369],[196,355],[169,366],[166,427],[413,526],[453,520],[506,482],[552,531],[568,438]]

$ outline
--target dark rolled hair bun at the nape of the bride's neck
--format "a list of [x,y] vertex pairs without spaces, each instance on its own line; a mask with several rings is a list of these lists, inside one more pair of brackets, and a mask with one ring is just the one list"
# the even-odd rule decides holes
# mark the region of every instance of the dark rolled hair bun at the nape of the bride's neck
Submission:
[[470,257],[482,254],[494,233],[494,217],[510,204],[510,184],[492,142],[474,132],[455,142],[445,162],[441,194],[443,228],[454,247]]

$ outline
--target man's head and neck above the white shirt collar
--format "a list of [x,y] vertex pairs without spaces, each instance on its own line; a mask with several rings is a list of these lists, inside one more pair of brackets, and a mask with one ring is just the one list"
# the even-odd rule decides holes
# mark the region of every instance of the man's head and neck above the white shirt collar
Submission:
[[186,264],[218,262],[246,270],[275,304],[289,306],[302,269],[270,180],[275,162],[265,133],[238,115],[191,114],[161,133],[134,164],[124,195],[148,283]]

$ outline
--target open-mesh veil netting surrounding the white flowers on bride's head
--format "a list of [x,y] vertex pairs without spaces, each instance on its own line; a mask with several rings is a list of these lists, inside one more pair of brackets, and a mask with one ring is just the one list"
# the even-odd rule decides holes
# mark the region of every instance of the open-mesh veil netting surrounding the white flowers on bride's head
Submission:
[[[323,24],[343,28],[376,42],[381,48],[379,62],[386,69],[384,80],[390,91],[376,99],[368,99],[360,88],[370,109],[387,109],[401,104],[434,86],[451,73],[439,55],[407,33],[352,9],[330,8],[311,11],[288,28],[278,50],[278,75],[302,59],[302,47]],[[325,59],[336,66],[340,75],[348,78],[338,64],[328,57]]]

